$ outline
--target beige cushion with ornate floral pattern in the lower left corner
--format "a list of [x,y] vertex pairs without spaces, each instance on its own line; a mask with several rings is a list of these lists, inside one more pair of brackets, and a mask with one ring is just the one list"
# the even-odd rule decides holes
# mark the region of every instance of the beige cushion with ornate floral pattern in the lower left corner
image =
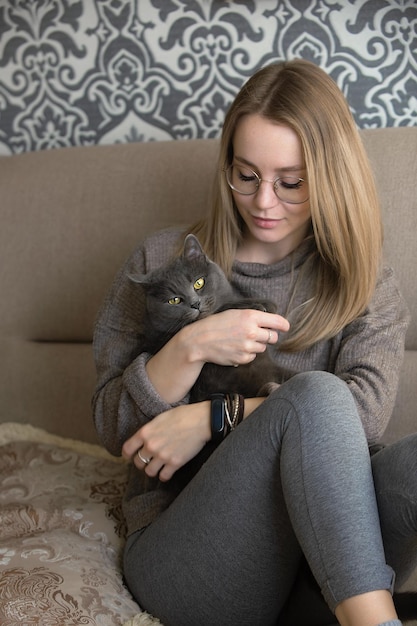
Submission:
[[18,424],[0,445],[0,623],[160,624],[123,584],[126,463]]

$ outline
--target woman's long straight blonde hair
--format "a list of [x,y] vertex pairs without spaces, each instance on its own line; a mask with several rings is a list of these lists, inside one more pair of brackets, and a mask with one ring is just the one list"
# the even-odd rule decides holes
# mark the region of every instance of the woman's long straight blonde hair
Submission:
[[375,183],[349,106],[323,70],[294,60],[258,71],[226,115],[212,209],[191,229],[227,275],[242,237],[242,221],[220,172],[232,162],[237,123],[250,114],[292,128],[304,152],[316,246],[307,261],[313,267],[307,269],[315,280],[311,297],[281,345],[287,351],[302,350],[337,334],[369,304],[382,248]]

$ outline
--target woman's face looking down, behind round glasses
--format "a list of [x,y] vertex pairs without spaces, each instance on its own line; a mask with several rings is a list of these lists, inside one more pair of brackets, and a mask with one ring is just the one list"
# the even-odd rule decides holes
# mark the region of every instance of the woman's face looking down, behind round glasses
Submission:
[[[240,181],[249,184],[248,170],[262,182],[253,195],[232,190],[245,224],[237,259],[253,263],[274,263],[290,254],[306,237],[310,227],[308,184],[300,183],[304,193],[296,194],[300,204],[280,200],[274,191],[279,177],[306,178],[300,139],[291,128],[251,114],[242,117],[233,138],[233,166]],[[250,176],[250,174],[249,174]],[[272,182],[271,182],[272,181]],[[284,189],[278,193],[287,195]],[[306,198],[306,200],[304,200]]]

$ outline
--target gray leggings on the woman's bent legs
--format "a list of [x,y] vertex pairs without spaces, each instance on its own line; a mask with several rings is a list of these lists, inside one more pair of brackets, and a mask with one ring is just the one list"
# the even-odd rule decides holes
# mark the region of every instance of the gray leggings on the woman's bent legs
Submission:
[[417,561],[416,450],[409,437],[371,469],[347,385],[294,376],[129,538],[127,584],[165,626],[276,624],[303,554],[332,611],[392,590]]

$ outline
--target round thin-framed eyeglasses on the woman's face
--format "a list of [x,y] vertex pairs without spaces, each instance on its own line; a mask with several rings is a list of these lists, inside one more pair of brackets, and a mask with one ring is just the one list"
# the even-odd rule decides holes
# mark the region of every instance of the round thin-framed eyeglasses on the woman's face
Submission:
[[255,194],[263,181],[274,185],[275,195],[282,202],[302,204],[308,200],[308,187],[303,178],[280,176],[275,180],[265,180],[253,170],[241,165],[231,165],[225,172],[229,187],[244,196]]

